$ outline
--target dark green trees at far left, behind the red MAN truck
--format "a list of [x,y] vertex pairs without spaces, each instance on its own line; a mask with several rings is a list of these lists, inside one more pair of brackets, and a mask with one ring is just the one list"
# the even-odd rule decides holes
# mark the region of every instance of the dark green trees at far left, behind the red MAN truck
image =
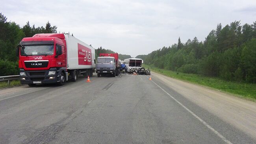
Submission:
[[19,74],[18,58],[15,54],[16,46],[24,37],[32,37],[37,33],[56,33],[57,27],[49,22],[45,27],[26,25],[20,27],[15,22],[7,22],[6,16],[0,13],[0,76]]

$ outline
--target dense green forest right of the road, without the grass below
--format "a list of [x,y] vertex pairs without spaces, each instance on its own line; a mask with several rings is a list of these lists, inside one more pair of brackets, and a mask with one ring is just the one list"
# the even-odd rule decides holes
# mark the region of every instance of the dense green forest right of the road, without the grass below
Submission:
[[256,22],[219,23],[204,41],[197,37],[139,55],[147,65],[183,73],[256,83]]

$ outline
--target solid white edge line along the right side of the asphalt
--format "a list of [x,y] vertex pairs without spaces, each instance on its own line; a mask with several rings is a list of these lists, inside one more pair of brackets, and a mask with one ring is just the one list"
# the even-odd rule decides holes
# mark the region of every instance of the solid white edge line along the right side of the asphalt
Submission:
[[[152,80],[151,80],[152,81]],[[174,101],[176,101],[178,104],[180,104],[183,108],[185,108],[189,113],[191,113],[194,117],[196,117],[200,122],[202,122],[207,128],[209,128],[213,133],[218,135],[224,142],[227,144],[232,144],[229,140],[227,140],[223,135],[221,135],[218,131],[216,131],[214,128],[212,128],[209,124],[207,124],[204,120],[202,120],[200,117],[198,117],[195,113],[193,113],[191,110],[189,110],[186,106],[184,106],[182,103],[180,103],[178,100],[176,100],[173,96],[171,96],[168,92],[166,92],[163,88],[161,88],[158,84],[156,84],[154,81],[152,81],[155,85],[157,85],[161,90],[163,90],[167,95],[169,95]]]

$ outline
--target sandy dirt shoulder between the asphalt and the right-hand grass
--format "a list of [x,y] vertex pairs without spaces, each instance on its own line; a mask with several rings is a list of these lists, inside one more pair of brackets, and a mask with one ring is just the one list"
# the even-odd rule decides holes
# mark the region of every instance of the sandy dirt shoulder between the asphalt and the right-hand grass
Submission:
[[230,94],[204,86],[187,83],[152,72],[152,78],[159,79],[189,101],[216,115],[241,131],[255,137],[256,104]]

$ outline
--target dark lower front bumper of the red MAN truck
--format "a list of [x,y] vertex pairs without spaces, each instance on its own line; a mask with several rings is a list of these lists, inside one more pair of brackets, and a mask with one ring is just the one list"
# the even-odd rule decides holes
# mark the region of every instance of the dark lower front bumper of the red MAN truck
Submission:
[[[54,75],[48,75],[50,71],[56,71]],[[20,72],[25,72],[26,76],[20,76],[21,84],[47,84],[47,83],[57,83],[60,81],[61,77],[57,68],[50,68],[49,70],[30,70],[26,71],[20,69]]]

